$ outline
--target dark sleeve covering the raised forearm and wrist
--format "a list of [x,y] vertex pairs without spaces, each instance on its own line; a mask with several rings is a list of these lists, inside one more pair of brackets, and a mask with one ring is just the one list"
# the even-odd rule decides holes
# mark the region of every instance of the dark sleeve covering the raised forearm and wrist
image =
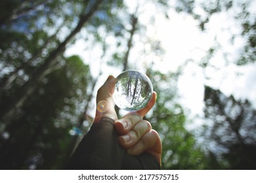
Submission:
[[117,141],[114,120],[101,118],[83,137],[66,169],[160,169],[160,165],[150,154],[127,154]]

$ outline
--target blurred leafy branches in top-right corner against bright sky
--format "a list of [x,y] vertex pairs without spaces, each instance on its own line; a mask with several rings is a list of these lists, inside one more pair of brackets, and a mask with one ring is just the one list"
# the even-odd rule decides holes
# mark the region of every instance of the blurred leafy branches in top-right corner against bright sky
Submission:
[[[195,1],[196,2],[196,1]],[[214,64],[211,64],[211,59],[217,53],[221,53],[223,55],[223,63],[226,65],[249,65],[255,62],[255,14],[251,7],[253,6],[252,1],[203,1],[200,5],[202,8],[203,14],[197,14],[196,11],[191,11],[192,16],[196,20],[199,21],[200,29],[203,32],[209,31],[207,29],[207,24],[211,23],[211,18],[214,16],[218,16],[223,14],[228,18],[228,21],[234,22],[234,24],[230,24],[232,27],[225,27],[223,25],[223,33],[224,29],[231,30],[234,29],[234,26],[239,27],[238,31],[229,31],[230,35],[228,37],[228,41],[226,44],[230,44],[231,46],[236,46],[236,44],[240,45],[240,49],[238,50],[237,58],[230,58],[229,55],[233,54],[232,51],[223,51],[223,45],[221,44],[221,35],[215,35],[215,43],[209,48],[206,53],[206,59],[203,58],[200,66],[203,68],[209,66],[214,67]],[[243,44],[237,43],[239,39],[244,39]],[[217,68],[219,69],[219,68]]]

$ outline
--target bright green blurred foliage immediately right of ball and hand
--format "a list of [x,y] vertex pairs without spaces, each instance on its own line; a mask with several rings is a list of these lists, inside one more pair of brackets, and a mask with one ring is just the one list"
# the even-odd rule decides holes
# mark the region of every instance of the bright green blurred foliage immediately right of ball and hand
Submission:
[[205,169],[206,156],[194,135],[186,129],[188,120],[177,102],[178,75],[149,73],[158,98],[152,116],[146,119],[161,137],[162,169]]

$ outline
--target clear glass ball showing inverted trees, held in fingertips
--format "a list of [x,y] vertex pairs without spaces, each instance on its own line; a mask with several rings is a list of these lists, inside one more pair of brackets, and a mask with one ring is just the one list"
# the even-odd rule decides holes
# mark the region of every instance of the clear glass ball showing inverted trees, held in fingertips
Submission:
[[153,86],[148,76],[139,71],[124,71],[117,76],[113,97],[117,107],[137,111],[146,107],[152,92]]

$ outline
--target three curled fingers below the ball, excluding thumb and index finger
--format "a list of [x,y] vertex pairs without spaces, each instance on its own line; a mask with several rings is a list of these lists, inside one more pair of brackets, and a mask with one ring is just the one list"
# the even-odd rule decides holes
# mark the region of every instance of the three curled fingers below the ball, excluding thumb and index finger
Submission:
[[119,144],[128,154],[138,156],[146,152],[158,159],[161,165],[161,139],[158,132],[152,129],[150,122],[134,112],[116,120],[114,125],[121,134],[118,137]]

